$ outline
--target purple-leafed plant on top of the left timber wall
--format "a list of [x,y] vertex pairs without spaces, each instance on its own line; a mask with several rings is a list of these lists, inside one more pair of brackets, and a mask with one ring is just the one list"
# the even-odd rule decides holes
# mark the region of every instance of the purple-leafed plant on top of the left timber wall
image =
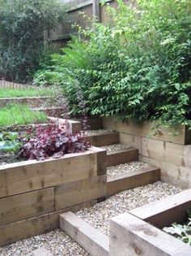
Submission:
[[71,134],[68,124],[62,128],[54,123],[48,127],[37,125],[35,130],[28,131],[21,141],[23,145],[19,157],[24,159],[60,158],[64,154],[83,152],[90,147],[81,132]]

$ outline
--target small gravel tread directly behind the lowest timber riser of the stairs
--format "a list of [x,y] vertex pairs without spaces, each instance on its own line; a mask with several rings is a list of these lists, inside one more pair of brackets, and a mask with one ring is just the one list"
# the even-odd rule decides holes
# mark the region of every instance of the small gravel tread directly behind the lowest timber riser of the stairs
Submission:
[[147,167],[150,167],[150,165],[148,163],[142,163],[142,162],[130,162],[130,163],[119,164],[114,167],[108,167],[107,176],[112,177],[117,174],[138,171],[141,169],[145,169]]

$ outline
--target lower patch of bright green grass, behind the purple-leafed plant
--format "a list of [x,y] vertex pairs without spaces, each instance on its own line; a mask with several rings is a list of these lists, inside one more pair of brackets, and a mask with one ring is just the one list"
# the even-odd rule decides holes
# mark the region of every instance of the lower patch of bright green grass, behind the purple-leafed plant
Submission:
[[0,128],[19,124],[45,123],[47,116],[42,111],[31,111],[27,105],[11,104],[0,109]]

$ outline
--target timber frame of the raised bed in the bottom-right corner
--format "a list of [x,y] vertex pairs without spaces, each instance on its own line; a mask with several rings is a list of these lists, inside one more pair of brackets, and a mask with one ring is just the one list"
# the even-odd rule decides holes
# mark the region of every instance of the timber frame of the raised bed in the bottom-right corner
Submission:
[[191,210],[191,189],[166,197],[110,222],[110,254],[190,256],[191,246],[161,229],[171,223],[184,223]]

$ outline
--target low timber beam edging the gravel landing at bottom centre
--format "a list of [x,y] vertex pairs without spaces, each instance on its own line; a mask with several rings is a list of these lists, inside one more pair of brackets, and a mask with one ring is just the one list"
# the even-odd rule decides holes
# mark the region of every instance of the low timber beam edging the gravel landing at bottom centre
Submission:
[[109,239],[71,211],[59,216],[60,228],[92,256],[108,256]]

